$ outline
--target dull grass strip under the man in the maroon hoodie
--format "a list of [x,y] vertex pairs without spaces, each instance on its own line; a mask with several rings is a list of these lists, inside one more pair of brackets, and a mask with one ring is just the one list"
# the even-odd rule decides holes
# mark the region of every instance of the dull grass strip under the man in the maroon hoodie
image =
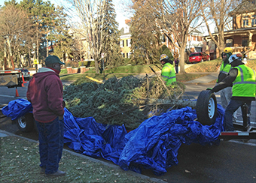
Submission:
[[17,136],[0,139],[0,182],[154,182],[122,169],[114,169],[63,151],[59,169],[67,175],[48,178],[40,174],[38,144]]

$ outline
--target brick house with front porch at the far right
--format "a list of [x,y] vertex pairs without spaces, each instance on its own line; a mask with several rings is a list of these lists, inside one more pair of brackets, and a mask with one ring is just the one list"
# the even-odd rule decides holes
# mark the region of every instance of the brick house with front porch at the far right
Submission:
[[[256,0],[244,0],[229,13],[232,17],[232,30],[224,31],[226,46],[233,48],[233,53],[241,52],[247,58],[256,58]],[[218,33],[214,33],[218,36]],[[205,37],[211,40],[210,36]],[[215,48],[215,58],[219,57],[218,49]],[[210,50],[210,54],[212,54]]]

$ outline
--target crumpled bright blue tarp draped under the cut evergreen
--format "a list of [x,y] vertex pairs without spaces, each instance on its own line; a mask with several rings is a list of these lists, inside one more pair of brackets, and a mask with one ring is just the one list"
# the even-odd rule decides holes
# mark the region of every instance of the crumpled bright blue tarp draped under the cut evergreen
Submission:
[[[19,111],[31,110],[28,101],[19,100],[10,102],[10,106],[3,108],[3,113],[17,118]],[[64,142],[78,153],[103,157],[122,169],[135,172],[141,172],[142,168],[152,169],[156,175],[161,175],[178,164],[178,148],[182,143],[212,145],[218,142],[224,121],[221,105],[218,105],[215,124],[202,125],[194,121],[195,118],[196,110],[184,107],[148,118],[127,133],[123,125],[100,124],[93,117],[76,118],[65,108]]]

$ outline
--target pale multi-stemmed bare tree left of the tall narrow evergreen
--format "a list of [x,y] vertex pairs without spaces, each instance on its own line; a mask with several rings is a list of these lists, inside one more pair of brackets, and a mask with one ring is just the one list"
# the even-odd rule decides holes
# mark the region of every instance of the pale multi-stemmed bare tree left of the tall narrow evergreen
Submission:
[[[84,29],[81,32],[87,40],[90,49],[90,56],[94,59],[96,74],[99,74],[99,59],[102,52],[102,40],[105,16],[105,0],[68,0],[73,7],[73,15],[78,16],[79,27]],[[71,10],[71,8],[69,9]]]

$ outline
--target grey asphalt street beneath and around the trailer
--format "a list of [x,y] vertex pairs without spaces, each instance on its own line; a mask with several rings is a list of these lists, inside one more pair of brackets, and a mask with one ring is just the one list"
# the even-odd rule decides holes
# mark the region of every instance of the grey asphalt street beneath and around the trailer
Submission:
[[[18,88],[20,98],[26,98],[26,87]],[[211,84],[187,85],[185,95],[197,99],[199,93],[212,87]],[[15,100],[15,89],[0,89],[0,104]],[[218,93],[216,94],[219,98]],[[218,99],[219,102],[219,99]],[[255,102],[253,103],[255,111]],[[255,114],[255,113],[254,113]],[[255,121],[255,119],[254,119]],[[37,133],[22,133],[10,118],[0,118],[0,129],[20,136],[37,139]],[[106,160],[104,160],[106,161]],[[178,165],[167,169],[164,175],[154,175],[151,170],[142,174],[160,178],[167,182],[256,182],[256,141],[241,139],[220,140],[219,145],[181,145],[178,150]],[[111,162],[109,162],[111,163]]]

